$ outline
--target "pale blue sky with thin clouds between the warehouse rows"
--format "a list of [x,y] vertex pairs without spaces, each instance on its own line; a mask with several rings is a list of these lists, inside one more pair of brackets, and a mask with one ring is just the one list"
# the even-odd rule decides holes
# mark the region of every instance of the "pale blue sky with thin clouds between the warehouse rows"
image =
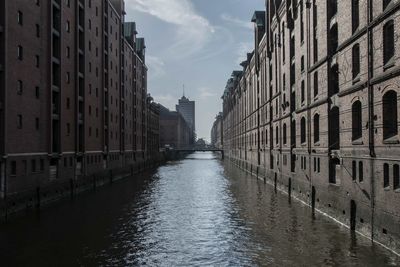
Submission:
[[185,85],[196,101],[199,138],[210,138],[226,81],[253,49],[255,10],[264,0],[125,0],[126,21],[146,39],[148,91],[175,109]]

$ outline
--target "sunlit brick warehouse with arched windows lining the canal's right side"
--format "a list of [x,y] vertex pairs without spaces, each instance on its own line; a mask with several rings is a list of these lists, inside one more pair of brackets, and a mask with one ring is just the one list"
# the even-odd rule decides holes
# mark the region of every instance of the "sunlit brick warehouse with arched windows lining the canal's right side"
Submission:
[[225,155],[400,251],[400,1],[267,0],[223,95]]

